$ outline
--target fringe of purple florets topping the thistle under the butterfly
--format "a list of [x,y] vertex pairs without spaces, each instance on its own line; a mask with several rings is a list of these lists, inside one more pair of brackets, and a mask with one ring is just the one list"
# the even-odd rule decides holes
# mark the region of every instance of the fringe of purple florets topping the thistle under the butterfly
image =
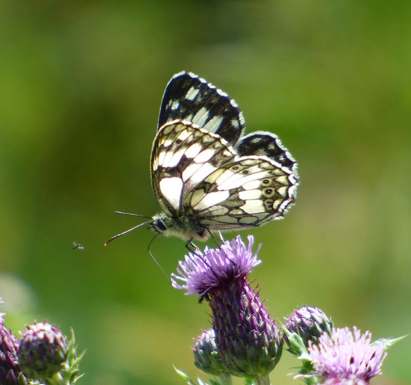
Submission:
[[198,249],[195,254],[189,253],[184,261],[179,261],[178,274],[172,274],[173,287],[186,290],[187,295],[203,297],[213,289],[247,277],[252,268],[261,263],[257,258],[258,250],[255,254],[252,252],[254,238],[247,239],[248,246],[237,236],[219,248],[206,246],[203,253]]

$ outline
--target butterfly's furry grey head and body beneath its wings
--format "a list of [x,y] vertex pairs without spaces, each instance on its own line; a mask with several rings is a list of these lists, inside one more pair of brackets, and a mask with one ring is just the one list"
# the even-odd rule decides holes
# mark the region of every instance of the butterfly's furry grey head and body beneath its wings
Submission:
[[163,212],[153,216],[151,228],[165,237],[179,237],[184,241],[189,239],[203,241],[210,236],[205,226],[198,224],[198,221],[189,216],[173,218]]

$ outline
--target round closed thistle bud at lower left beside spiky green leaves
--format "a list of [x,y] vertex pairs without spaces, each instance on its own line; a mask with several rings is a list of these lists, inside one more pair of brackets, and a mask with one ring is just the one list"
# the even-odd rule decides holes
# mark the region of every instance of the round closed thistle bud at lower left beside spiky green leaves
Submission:
[[30,378],[48,378],[62,369],[68,344],[66,337],[47,322],[26,325],[22,332],[18,364]]

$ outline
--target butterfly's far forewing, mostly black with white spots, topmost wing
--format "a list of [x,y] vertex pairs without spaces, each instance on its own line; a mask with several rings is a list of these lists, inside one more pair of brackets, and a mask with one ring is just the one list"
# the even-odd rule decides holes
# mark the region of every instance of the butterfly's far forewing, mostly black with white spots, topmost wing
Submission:
[[234,99],[191,72],[177,73],[165,88],[158,129],[174,120],[192,122],[232,145],[244,131],[244,117]]

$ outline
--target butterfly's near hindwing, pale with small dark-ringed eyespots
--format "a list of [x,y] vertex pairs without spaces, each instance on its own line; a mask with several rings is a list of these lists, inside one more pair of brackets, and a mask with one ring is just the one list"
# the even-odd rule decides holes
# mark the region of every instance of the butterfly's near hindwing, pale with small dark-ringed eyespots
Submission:
[[266,156],[241,157],[198,184],[183,206],[211,231],[256,227],[283,218],[297,183],[293,172]]

